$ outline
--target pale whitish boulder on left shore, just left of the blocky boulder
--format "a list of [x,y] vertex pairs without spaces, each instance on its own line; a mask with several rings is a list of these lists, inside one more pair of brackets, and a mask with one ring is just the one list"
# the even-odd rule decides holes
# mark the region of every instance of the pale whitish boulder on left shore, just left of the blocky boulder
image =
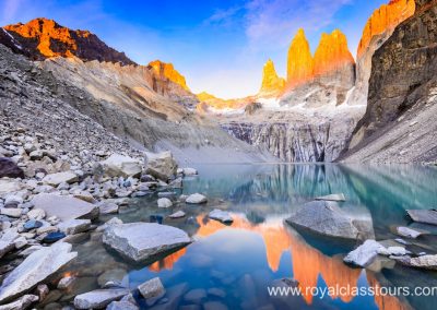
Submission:
[[113,154],[102,162],[106,175],[109,177],[138,177],[141,175],[141,165],[138,160],[120,154]]

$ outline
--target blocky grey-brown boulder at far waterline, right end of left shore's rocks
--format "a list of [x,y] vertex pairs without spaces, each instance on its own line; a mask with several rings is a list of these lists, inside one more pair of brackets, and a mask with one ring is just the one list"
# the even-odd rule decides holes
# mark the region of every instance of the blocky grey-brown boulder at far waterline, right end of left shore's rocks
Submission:
[[145,157],[146,174],[160,180],[168,181],[177,172],[177,163],[170,152]]

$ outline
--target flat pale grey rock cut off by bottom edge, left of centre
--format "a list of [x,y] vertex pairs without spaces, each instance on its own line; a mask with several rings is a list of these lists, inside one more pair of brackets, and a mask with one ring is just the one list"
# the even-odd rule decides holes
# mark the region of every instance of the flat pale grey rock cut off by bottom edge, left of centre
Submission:
[[96,289],[78,295],[74,298],[74,307],[78,309],[104,309],[110,302],[121,299],[129,294],[128,289]]

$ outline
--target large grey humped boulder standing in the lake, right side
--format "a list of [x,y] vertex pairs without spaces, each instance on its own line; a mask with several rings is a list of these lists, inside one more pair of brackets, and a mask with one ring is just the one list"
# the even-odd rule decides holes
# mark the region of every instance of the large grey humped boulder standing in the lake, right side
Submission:
[[311,201],[304,204],[286,223],[329,237],[362,239],[373,235],[371,223],[353,219],[335,202]]

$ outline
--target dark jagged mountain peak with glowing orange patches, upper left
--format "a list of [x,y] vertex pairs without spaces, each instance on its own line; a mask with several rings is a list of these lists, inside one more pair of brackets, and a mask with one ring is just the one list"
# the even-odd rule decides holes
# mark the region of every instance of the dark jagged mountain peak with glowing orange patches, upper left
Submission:
[[122,52],[108,47],[96,35],[87,31],[72,31],[52,20],[35,19],[26,24],[4,26],[23,47],[27,57],[43,60],[50,57],[72,57],[82,60],[98,60],[135,64]]

